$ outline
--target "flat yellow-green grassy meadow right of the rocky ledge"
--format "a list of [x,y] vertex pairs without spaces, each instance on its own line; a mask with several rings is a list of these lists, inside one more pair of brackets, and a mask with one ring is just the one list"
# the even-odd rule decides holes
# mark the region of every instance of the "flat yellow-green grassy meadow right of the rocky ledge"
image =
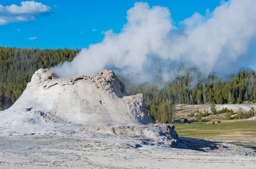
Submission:
[[209,123],[174,124],[179,137],[256,145],[256,120],[221,120]]

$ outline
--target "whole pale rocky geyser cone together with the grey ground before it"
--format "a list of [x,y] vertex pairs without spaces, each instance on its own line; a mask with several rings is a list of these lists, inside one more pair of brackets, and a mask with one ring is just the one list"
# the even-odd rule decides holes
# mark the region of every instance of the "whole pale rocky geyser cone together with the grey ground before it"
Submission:
[[253,148],[152,122],[143,95],[129,95],[112,71],[62,79],[39,69],[0,112],[0,169],[256,168]]

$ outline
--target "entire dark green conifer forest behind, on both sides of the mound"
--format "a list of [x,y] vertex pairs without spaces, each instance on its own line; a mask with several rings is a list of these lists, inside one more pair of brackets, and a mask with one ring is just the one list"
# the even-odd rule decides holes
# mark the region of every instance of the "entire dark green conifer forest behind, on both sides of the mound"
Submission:
[[[9,108],[26,89],[34,72],[71,61],[78,49],[23,49],[0,48],[0,110]],[[242,103],[256,100],[256,73],[243,69],[238,74],[228,75],[221,80],[214,74],[197,77],[191,69],[183,69],[185,75],[178,76],[162,87],[152,83],[133,85],[125,81],[130,93],[143,93],[148,113],[158,122],[171,122],[175,104]],[[161,82],[158,76],[155,81]],[[195,83],[196,81],[196,83]]]

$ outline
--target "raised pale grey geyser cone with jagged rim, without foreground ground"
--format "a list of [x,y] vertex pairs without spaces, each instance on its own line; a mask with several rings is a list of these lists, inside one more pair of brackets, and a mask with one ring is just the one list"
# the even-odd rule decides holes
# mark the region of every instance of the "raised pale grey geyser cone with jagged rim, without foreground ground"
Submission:
[[39,69],[14,105],[0,112],[0,125],[45,122],[122,126],[153,120],[146,113],[143,95],[129,95],[113,71],[64,79],[49,69]]

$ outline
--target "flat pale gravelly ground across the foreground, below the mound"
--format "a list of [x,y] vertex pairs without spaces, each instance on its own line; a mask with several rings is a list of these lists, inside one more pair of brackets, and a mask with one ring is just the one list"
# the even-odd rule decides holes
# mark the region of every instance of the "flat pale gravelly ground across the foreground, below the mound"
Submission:
[[256,168],[253,149],[183,137],[190,149],[169,148],[140,136],[90,133],[2,133],[0,140],[1,169]]

